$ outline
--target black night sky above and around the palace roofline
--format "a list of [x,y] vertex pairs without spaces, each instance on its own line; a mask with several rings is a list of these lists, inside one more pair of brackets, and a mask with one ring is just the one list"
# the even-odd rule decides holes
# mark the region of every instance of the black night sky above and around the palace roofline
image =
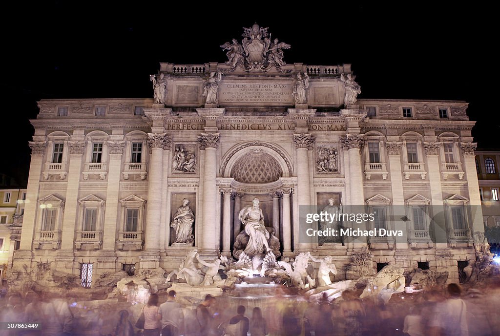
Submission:
[[87,1],[75,7],[66,2],[72,1],[26,5],[4,12],[16,23],[5,23],[5,17],[0,23],[6,57],[0,127],[7,139],[0,171],[21,181],[27,179],[27,141],[33,132],[28,119],[37,114],[37,100],[152,97],[148,75],[157,72],[160,61],[223,62],[219,45],[240,39],[242,27],[255,21],[291,44],[284,53],[288,63],[351,63],[360,98],[468,101],[479,147],[500,147],[497,112],[487,99],[496,95],[489,79],[495,77],[492,46],[498,39],[492,33],[492,9],[471,3],[385,7],[307,1],[300,7],[283,1],[201,6],[142,1],[104,6],[104,1]]

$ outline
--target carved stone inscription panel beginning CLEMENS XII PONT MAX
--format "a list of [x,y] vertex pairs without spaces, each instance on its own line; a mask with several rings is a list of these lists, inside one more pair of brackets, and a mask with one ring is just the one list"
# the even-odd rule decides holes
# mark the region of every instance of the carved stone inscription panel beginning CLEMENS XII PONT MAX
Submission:
[[220,84],[220,102],[292,104],[290,83],[224,83]]

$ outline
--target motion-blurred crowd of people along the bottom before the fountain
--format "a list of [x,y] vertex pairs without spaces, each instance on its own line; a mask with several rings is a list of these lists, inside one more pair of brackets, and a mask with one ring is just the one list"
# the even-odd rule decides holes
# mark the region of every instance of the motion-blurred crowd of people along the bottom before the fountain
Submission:
[[[431,288],[393,295],[386,304],[373,298],[361,300],[359,293],[359,289],[345,290],[339,298],[329,301],[324,296],[313,303],[302,295],[283,295],[281,290],[261,306],[248,301],[246,308],[234,304],[244,299],[210,294],[198,304],[181,304],[170,290],[162,298],[150,294],[140,310],[130,304],[121,310],[87,308],[89,314],[97,314],[88,327],[78,322],[75,304],[66,299],[42,298],[32,292],[24,297],[12,294],[0,309],[0,336],[466,336],[494,335],[500,330],[496,312],[500,286],[463,293],[451,283],[445,291]],[[7,322],[41,327],[10,328]]]

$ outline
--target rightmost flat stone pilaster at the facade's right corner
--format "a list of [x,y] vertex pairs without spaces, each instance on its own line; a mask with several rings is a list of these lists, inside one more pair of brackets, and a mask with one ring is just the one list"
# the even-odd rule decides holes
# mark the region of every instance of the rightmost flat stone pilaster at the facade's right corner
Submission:
[[467,179],[467,191],[469,194],[470,210],[472,215],[472,234],[476,232],[484,232],[484,223],[482,222],[481,197],[479,196],[479,182],[477,181],[477,172],[475,169],[475,154],[474,150],[477,143],[461,142],[460,148],[463,153],[463,167]]

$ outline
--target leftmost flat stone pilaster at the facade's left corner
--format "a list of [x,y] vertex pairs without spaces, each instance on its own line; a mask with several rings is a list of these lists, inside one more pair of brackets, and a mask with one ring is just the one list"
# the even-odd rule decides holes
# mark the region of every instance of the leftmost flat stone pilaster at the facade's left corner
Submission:
[[31,163],[29,164],[28,186],[26,189],[26,201],[24,205],[24,215],[21,228],[21,242],[19,250],[15,251],[16,258],[25,254],[22,255],[22,257],[26,257],[27,260],[31,258],[31,245],[34,238],[33,234],[35,230],[35,218],[38,206],[38,190],[46,142],[29,142],[29,147],[31,148]]

